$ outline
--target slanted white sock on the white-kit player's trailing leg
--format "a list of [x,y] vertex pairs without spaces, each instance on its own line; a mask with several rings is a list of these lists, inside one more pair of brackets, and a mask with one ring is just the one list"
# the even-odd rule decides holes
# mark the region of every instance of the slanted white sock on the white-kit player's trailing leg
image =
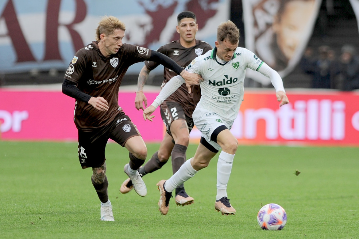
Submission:
[[198,172],[193,169],[191,165],[191,159],[192,158],[183,163],[180,169],[178,169],[178,171],[164,183],[164,189],[167,192],[172,192],[176,187],[195,176],[195,174]]

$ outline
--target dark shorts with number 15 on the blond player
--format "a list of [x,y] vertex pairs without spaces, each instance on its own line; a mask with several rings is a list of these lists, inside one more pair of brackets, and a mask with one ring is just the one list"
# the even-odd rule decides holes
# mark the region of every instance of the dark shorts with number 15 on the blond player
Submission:
[[127,140],[134,136],[141,136],[129,116],[123,111],[116,118],[102,128],[92,131],[78,129],[78,154],[82,168],[97,168],[105,162],[105,148],[108,139],[124,147]]

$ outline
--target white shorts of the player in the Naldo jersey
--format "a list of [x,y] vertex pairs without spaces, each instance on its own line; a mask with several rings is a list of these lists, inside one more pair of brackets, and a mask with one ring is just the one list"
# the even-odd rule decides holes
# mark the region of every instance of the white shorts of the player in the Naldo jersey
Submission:
[[219,144],[211,140],[211,135],[219,126],[224,125],[228,129],[232,128],[234,121],[225,122],[218,114],[200,107],[196,107],[195,111],[193,111],[192,118],[197,129],[201,132],[202,137],[215,149],[221,150]]

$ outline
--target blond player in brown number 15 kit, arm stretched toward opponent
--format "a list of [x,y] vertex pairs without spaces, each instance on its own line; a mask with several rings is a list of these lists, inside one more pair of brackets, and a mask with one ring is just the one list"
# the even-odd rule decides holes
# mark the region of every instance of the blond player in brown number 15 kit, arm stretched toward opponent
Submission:
[[113,16],[102,18],[96,29],[97,41],[76,52],[62,83],[62,92],[76,99],[74,121],[78,129],[78,157],[82,168],[92,168],[91,181],[101,201],[100,219],[105,221],[114,221],[107,193],[105,148],[108,139],[129,151],[130,161],[124,172],[140,196],[147,193],[137,172],[145,162],[146,145],[130,117],[118,105],[118,87],[129,66],[151,60],[180,74],[188,85],[199,84],[202,80],[162,53],[122,43],[125,29]]

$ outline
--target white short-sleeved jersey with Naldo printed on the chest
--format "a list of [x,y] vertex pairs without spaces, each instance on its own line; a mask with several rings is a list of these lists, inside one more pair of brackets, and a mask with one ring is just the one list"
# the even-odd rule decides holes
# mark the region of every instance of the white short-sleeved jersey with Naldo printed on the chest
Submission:
[[246,68],[258,71],[262,63],[253,52],[242,47],[238,47],[233,58],[224,64],[217,61],[216,48],[196,57],[187,70],[204,79],[197,107],[211,110],[227,122],[236,119],[244,95]]

